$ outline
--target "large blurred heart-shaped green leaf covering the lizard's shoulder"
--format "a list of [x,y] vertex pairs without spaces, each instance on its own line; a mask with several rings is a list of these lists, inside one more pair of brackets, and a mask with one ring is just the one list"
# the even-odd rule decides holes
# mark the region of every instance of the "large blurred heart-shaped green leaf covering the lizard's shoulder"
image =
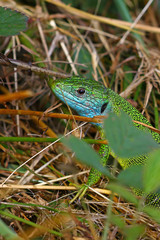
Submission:
[[121,112],[120,116],[110,113],[104,121],[104,131],[109,146],[120,158],[136,157],[159,148],[152,135],[137,129],[124,112]]

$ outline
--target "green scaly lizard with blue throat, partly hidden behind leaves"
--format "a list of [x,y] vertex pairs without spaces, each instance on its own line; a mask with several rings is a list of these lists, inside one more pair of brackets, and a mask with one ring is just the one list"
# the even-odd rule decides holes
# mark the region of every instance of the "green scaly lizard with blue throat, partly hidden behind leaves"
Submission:
[[[57,79],[55,81],[50,80],[48,84],[53,93],[60,100],[69,105],[72,109],[76,110],[76,112],[81,116],[94,117],[99,115],[106,115],[111,111],[118,113],[120,110],[123,110],[132,118],[132,120],[139,121],[151,126],[148,120],[141,113],[139,113],[138,110],[134,108],[128,101],[126,101],[111,89],[105,88],[101,83],[97,81],[74,76],[72,78]],[[160,136],[158,133],[146,129],[146,127],[138,123],[134,124],[139,129],[151,132],[155,141],[160,143]],[[96,125],[101,131],[101,135],[103,137],[102,125]],[[110,154],[110,148],[108,145],[101,145],[99,154],[101,156],[103,165],[105,165]],[[118,159],[118,161],[122,168],[125,169],[131,165],[145,164],[146,156],[143,155],[136,158]],[[81,198],[88,187],[95,184],[99,180],[100,176],[101,173],[95,169],[91,169],[88,182],[86,185],[82,186],[74,199],[77,197]],[[149,196],[148,199],[149,202],[153,202],[152,205],[160,205],[160,195],[155,193],[152,196]]]

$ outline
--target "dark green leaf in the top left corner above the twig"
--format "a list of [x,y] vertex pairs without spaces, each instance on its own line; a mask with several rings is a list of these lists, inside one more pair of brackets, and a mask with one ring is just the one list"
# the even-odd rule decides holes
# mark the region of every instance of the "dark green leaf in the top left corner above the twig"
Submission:
[[0,7],[0,36],[17,35],[27,28],[28,17],[24,14]]

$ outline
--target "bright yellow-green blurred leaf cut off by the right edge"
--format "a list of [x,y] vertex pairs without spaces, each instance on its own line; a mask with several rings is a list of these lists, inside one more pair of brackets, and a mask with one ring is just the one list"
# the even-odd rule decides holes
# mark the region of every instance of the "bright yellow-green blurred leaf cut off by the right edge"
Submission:
[[151,193],[160,187],[160,150],[148,156],[144,166],[143,184],[145,193]]

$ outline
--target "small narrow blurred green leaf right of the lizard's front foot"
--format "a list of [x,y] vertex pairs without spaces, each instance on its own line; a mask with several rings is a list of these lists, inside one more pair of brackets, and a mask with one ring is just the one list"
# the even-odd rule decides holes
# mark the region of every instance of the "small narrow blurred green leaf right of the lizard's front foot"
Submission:
[[119,196],[123,197],[128,202],[138,205],[138,200],[135,197],[135,195],[130,190],[126,189],[124,186],[115,183],[110,183],[107,185],[107,188],[117,193]]

